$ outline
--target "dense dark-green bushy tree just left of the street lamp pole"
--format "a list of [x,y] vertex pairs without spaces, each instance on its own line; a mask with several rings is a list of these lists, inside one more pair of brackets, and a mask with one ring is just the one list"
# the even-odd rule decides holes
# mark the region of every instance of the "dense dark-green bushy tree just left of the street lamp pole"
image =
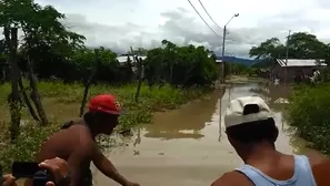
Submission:
[[177,46],[162,41],[163,48],[148,51],[146,78],[149,84],[167,82],[176,86],[210,85],[218,68],[203,46]]

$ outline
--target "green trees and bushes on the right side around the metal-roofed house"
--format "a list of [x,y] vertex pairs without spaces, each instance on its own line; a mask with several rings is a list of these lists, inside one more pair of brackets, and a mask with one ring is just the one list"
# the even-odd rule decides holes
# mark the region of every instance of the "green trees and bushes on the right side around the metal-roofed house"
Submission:
[[[330,64],[330,43],[316,35],[297,32],[288,38],[289,59],[323,59]],[[270,69],[276,59],[286,59],[286,44],[271,38],[250,50],[250,55],[260,60],[254,68]],[[294,85],[288,115],[298,134],[312,143],[313,147],[330,155],[330,80],[329,68],[321,72],[322,81],[317,85]]]

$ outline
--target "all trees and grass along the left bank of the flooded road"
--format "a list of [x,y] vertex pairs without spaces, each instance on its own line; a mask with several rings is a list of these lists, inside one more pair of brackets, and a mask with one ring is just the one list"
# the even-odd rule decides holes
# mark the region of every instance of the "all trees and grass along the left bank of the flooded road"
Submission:
[[3,0],[0,12],[0,164],[7,170],[13,159],[31,159],[60,124],[80,116],[91,95],[114,93],[128,111],[118,131],[127,131],[149,123],[153,111],[200,96],[218,76],[203,46],[163,40],[160,48],[128,49],[121,62],[111,49],[84,45],[86,38],[63,25],[66,16],[51,6]]

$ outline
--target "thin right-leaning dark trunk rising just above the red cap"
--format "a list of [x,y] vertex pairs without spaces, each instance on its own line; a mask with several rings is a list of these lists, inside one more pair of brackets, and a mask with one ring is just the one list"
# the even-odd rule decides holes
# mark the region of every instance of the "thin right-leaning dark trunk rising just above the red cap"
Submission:
[[84,90],[83,90],[83,95],[82,95],[82,100],[81,100],[79,117],[81,117],[83,115],[83,108],[84,108],[84,105],[86,105],[86,102],[87,102],[87,95],[88,95],[88,92],[89,92],[89,87],[90,87],[90,85],[91,85],[91,83],[93,81],[94,75],[97,74],[98,66],[99,66],[99,63],[100,63],[99,51],[97,49],[94,50],[94,53],[96,53],[96,65],[93,66],[92,72],[91,72],[88,81],[84,83]]

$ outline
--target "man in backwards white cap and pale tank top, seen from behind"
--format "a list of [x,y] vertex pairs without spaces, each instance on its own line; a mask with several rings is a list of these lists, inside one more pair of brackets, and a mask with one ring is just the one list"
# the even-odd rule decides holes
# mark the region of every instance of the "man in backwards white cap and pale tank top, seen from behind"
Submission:
[[328,157],[317,152],[304,156],[276,149],[279,131],[261,97],[232,100],[224,125],[230,144],[244,164],[211,186],[330,186]]

